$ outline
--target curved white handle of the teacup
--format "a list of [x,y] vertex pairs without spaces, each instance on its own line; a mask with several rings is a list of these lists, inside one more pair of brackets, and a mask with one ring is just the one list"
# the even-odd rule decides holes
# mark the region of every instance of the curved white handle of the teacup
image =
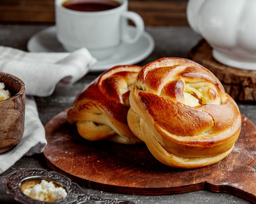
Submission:
[[[131,36],[128,33],[128,20],[131,20],[135,24],[136,33]],[[126,11],[122,14],[122,41],[126,43],[135,43],[144,33],[145,25],[144,21],[138,13],[133,11]]]

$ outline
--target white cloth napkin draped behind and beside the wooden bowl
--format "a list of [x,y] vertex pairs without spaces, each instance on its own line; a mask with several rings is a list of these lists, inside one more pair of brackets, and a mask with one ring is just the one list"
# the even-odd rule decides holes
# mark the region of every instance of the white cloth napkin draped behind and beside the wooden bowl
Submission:
[[81,79],[97,62],[86,48],[73,53],[29,53],[0,46],[0,72],[20,78],[26,86],[25,130],[20,143],[0,154],[0,173],[22,156],[43,152],[47,141],[33,96],[46,97]]

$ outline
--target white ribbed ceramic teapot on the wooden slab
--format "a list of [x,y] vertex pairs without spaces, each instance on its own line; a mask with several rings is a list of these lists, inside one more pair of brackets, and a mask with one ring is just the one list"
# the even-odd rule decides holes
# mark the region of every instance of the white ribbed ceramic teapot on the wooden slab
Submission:
[[217,61],[256,70],[256,0],[189,0],[186,12]]

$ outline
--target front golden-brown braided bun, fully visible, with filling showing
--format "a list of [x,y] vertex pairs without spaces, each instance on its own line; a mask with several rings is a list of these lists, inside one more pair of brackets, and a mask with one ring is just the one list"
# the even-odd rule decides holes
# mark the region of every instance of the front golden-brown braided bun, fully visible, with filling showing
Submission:
[[199,168],[225,158],[241,129],[241,114],[220,81],[189,59],[144,66],[130,91],[128,125],[160,162]]

